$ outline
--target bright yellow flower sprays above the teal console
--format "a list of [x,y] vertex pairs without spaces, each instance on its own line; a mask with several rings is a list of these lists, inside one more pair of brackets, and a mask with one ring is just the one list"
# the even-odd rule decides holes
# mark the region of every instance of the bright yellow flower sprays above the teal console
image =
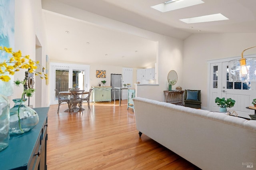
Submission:
[[[14,52],[12,51],[12,48],[1,46],[0,50],[5,53],[12,54],[12,57],[10,57],[7,61],[4,60],[3,62],[0,62],[0,79],[2,81],[9,81],[9,75],[14,75],[14,73],[20,71],[20,69],[30,69],[30,73],[34,72],[35,75],[39,75],[41,79],[48,79],[47,74],[35,71],[35,69],[37,69],[36,65],[39,65],[39,61],[32,61],[29,55],[22,56],[20,50]],[[8,73],[9,75],[6,75],[6,73]]]

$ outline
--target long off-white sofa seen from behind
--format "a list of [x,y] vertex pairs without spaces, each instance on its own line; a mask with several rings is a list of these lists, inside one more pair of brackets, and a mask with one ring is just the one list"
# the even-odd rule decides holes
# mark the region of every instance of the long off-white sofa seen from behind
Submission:
[[256,169],[256,121],[136,97],[136,127],[202,170]]

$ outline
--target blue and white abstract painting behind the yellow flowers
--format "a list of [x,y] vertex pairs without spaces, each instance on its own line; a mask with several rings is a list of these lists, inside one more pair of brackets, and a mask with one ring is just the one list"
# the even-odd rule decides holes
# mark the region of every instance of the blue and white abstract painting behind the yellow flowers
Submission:
[[[0,46],[12,47],[14,50],[14,0],[0,0]],[[0,63],[8,60],[10,54],[0,52]],[[14,76],[9,75],[10,81],[0,81],[0,94],[13,94]]]

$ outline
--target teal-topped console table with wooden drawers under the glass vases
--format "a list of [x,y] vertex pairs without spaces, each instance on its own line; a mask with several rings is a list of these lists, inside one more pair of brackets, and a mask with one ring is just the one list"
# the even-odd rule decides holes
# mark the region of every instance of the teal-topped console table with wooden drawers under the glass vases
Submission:
[[0,170],[46,170],[47,113],[49,107],[34,108],[38,124],[30,131],[10,136],[9,146],[0,152]]

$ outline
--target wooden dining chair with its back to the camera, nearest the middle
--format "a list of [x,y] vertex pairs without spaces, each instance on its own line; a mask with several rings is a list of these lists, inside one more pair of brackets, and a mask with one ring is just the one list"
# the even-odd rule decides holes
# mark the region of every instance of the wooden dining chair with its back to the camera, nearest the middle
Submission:
[[74,112],[74,108],[76,106],[79,106],[79,111],[82,111],[82,95],[84,93],[84,90],[70,90],[71,98],[70,98],[70,110],[72,108]]

